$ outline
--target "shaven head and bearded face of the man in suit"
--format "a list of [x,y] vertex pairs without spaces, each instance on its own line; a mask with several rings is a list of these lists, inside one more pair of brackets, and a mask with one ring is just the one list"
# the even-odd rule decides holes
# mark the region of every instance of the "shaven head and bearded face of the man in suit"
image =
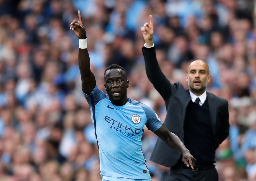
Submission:
[[209,68],[204,61],[195,60],[191,62],[186,75],[186,81],[191,92],[197,96],[203,94],[210,80]]

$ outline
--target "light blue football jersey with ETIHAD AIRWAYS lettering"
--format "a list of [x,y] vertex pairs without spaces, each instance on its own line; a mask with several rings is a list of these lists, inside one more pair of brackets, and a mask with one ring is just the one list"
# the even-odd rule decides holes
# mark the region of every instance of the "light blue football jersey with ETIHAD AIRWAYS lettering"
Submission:
[[92,123],[100,152],[100,174],[132,179],[150,178],[141,151],[143,127],[158,130],[163,122],[145,104],[128,99],[115,106],[97,85],[84,94],[91,108]]

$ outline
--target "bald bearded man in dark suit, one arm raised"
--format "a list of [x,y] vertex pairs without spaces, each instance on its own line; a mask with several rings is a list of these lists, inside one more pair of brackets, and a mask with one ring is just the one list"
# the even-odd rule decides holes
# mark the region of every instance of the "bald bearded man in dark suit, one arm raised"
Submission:
[[180,137],[197,161],[194,169],[187,169],[181,162],[181,153],[169,148],[161,139],[157,140],[150,160],[171,167],[167,181],[217,181],[215,150],[228,137],[228,101],[206,91],[211,75],[202,60],[195,60],[188,66],[189,90],[180,82],[170,83],[156,59],[151,15],[149,19],[150,23],[141,27],[146,42],[142,51],[148,79],[164,98],[166,127]]

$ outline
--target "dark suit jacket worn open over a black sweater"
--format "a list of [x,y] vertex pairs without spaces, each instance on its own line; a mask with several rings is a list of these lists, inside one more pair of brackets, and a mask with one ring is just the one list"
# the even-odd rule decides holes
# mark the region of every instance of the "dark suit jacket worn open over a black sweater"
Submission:
[[[170,83],[165,77],[158,65],[155,47],[143,47],[142,51],[148,79],[165,101],[167,115],[164,124],[168,130],[176,134],[184,143],[183,124],[186,108],[191,100],[189,91],[185,90],[180,82]],[[210,92],[206,92],[206,95],[212,122],[214,149],[216,149],[229,134],[228,101],[224,98],[217,97]],[[180,152],[173,150],[167,146],[163,140],[158,138],[150,160],[166,167],[172,167],[177,163],[180,156]]]

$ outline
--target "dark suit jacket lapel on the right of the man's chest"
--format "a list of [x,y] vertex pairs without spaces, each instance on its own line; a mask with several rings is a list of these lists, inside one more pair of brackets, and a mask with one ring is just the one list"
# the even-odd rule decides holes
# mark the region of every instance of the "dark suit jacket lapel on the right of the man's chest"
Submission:
[[212,132],[213,135],[216,135],[216,109],[217,109],[217,103],[214,100],[214,97],[206,92],[207,95],[207,100],[208,100],[208,105],[210,109],[210,117],[211,117],[211,123],[212,123]]

